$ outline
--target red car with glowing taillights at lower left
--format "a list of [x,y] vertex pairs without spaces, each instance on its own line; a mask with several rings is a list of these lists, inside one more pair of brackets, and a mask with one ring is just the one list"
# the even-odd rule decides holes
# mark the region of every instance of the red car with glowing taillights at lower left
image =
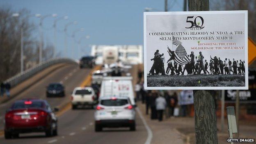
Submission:
[[48,137],[57,135],[57,110],[52,110],[46,100],[15,101],[5,114],[5,139],[31,132],[45,132]]

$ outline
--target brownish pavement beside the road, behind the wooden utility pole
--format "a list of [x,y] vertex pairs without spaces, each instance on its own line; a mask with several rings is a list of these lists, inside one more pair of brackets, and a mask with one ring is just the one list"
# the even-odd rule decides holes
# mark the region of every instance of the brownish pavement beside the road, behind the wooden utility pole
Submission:
[[[153,131],[152,144],[195,144],[194,117],[173,117],[162,122],[151,120],[150,115],[145,113],[145,105],[138,102],[147,123]],[[221,130],[220,119],[217,119],[217,128]],[[240,121],[240,138],[254,138],[256,140],[256,122]],[[227,119],[225,119],[224,131],[217,132],[219,144],[229,144],[226,139],[229,137]],[[236,138],[236,135],[233,134]],[[235,143],[234,143],[235,144]],[[239,143],[243,144],[243,143]],[[248,144],[248,143],[244,143]]]

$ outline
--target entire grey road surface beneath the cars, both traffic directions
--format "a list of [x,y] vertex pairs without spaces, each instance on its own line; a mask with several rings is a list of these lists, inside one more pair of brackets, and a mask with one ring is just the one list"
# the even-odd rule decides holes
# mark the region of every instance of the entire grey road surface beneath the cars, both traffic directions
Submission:
[[[45,99],[46,85],[50,82],[62,81],[66,88],[65,98],[46,98],[53,107],[69,100],[74,87],[79,86],[90,73],[91,69],[78,69],[77,65],[68,64],[57,69],[46,76],[32,87],[0,105],[0,114],[3,116],[5,110],[10,107],[14,100],[26,97],[37,97]],[[44,133],[20,134],[16,139],[5,139],[0,136],[0,144],[143,144],[147,139],[147,130],[139,115],[136,115],[137,130],[129,131],[129,128],[103,129],[103,132],[94,132],[94,110],[78,109],[71,110],[70,107],[58,117],[58,136],[45,137]],[[3,129],[3,124],[0,126]]]

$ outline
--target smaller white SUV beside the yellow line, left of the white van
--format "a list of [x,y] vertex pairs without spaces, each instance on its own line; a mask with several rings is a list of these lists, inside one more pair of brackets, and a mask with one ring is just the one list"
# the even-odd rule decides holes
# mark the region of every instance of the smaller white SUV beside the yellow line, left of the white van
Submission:
[[71,97],[72,109],[78,105],[93,106],[97,103],[97,97],[94,89],[91,87],[76,87]]

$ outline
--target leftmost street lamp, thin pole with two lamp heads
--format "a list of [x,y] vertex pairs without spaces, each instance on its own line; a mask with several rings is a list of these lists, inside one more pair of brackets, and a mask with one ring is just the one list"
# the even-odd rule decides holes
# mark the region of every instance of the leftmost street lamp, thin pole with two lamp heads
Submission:
[[[12,14],[13,17],[19,17],[19,13]],[[35,16],[34,14],[27,15],[26,18]],[[24,25],[21,25],[21,73],[24,71]]]

